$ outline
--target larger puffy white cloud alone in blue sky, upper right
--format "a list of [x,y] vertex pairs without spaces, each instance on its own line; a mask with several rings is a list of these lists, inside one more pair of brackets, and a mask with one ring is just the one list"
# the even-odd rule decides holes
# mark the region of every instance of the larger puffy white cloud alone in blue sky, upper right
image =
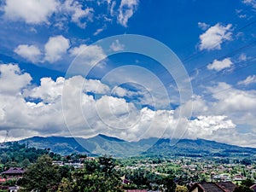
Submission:
[[221,49],[221,44],[223,44],[224,41],[231,40],[231,26],[231,24],[222,26],[219,23],[215,26],[211,26],[206,32],[201,34],[199,49]]

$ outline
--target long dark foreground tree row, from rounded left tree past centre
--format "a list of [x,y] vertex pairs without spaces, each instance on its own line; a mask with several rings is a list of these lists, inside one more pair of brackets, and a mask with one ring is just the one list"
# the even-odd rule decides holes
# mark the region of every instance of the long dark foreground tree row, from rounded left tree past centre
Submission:
[[[130,184],[122,183],[124,175],[131,179]],[[156,188],[171,192],[176,189],[172,176],[143,170],[123,172],[119,170],[119,162],[112,157],[85,160],[83,168],[74,169],[72,166],[53,165],[48,154],[29,166],[17,184],[23,192],[122,192],[125,189]]]

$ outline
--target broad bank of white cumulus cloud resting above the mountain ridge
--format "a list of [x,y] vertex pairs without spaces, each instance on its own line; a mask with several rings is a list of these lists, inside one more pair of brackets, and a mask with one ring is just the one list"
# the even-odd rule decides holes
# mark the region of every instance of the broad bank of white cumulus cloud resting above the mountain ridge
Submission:
[[[252,119],[247,122],[249,125],[255,122],[256,92],[236,90],[225,83],[208,88],[214,98],[212,103],[200,96],[189,101],[195,105],[195,119],[178,119],[175,110],[137,108],[124,98],[135,94],[129,90],[117,87],[114,91],[119,97],[112,96],[109,86],[96,79],[82,76],[43,78],[37,85],[31,84],[31,76],[17,65],[0,65],[0,72],[0,130],[8,128],[10,135],[16,138],[69,136],[71,131],[73,136],[79,137],[103,133],[135,141],[147,137],[180,138],[187,130],[185,137],[240,144],[236,143],[239,140],[228,140],[245,137],[236,131],[236,124],[248,119]],[[214,94],[224,89],[230,90]],[[189,106],[185,103],[183,108]],[[237,119],[232,115],[234,111],[243,115]]]

